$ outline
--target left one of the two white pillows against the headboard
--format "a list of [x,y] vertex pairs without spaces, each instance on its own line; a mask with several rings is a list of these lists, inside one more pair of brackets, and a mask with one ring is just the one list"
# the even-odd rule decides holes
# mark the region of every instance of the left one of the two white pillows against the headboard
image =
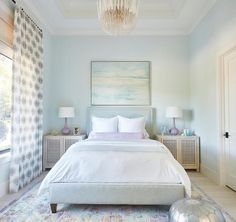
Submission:
[[92,116],[92,131],[96,133],[117,132],[118,118],[99,118]]

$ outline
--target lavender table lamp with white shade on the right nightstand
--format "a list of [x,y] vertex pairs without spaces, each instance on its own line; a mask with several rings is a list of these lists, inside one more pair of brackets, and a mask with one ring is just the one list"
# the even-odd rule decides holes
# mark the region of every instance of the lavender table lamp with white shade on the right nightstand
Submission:
[[173,136],[178,135],[179,130],[175,127],[175,119],[183,117],[182,110],[176,106],[169,106],[166,109],[166,117],[173,118],[173,127],[169,130],[170,135],[173,135]]

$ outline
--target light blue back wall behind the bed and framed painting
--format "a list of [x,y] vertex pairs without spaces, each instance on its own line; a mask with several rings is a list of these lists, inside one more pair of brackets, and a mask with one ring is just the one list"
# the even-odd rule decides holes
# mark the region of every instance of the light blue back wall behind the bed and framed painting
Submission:
[[[69,124],[86,130],[92,60],[151,61],[152,106],[157,109],[158,126],[170,124],[164,116],[167,106],[189,108],[188,37],[52,36],[50,44],[45,48],[50,57],[44,77],[45,133],[62,128],[59,106],[74,106],[76,118]],[[178,126],[188,127],[189,121],[179,121]]]

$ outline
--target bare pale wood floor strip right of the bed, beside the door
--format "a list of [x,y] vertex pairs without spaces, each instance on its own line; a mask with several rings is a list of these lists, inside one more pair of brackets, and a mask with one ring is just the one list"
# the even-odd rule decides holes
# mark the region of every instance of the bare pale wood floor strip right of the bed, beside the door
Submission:
[[236,192],[228,187],[215,184],[200,173],[188,172],[188,175],[211,199],[228,212],[236,221]]

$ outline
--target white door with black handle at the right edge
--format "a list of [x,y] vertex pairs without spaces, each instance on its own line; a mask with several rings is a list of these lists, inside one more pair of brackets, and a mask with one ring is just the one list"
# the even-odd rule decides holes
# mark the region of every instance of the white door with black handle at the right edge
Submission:
[[223,60],[226,185],[236,190],[236,48]]

